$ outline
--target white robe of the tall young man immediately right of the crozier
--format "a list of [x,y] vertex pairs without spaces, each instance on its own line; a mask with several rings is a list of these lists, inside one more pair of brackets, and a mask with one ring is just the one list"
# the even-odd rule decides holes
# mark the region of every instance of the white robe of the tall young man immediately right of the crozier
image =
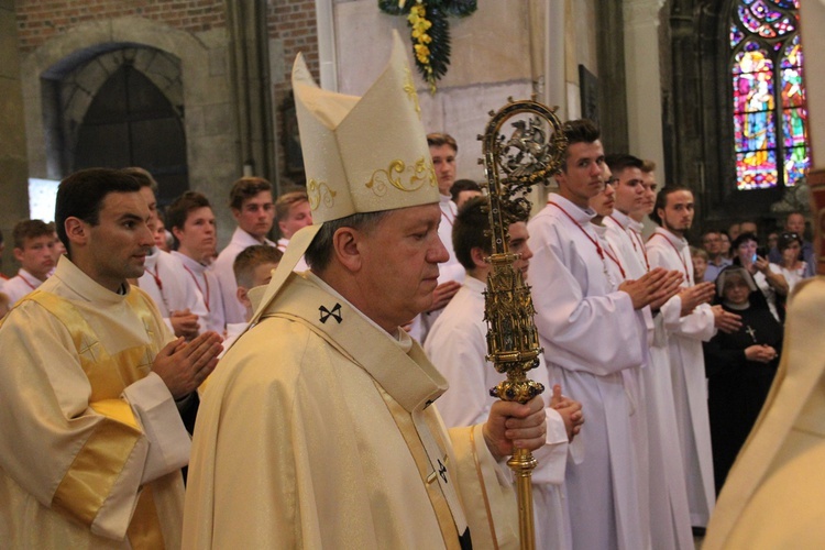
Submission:
[[[645,548],[630,415],[622,372],[642,363],[637,312],[600,257],[595,212],[559,195],[528,223],[529,280],[551,382],[582,403],[586,418],[568,465],[573,548]],[[563,209],[563,211],[559,208]],[[564,213],[566,212],[566,215]],[[572,219],[570,219],[570,216]]]

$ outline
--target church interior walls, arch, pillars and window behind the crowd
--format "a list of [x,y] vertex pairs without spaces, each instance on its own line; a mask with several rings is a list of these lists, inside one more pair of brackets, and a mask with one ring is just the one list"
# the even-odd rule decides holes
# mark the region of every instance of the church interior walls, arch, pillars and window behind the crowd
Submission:
[[[37,184],[142,166],[161,206],[186,189],[209,197],[222,245],[238,177],[276,190],[305,183],[296,54],[322,88],[362,95],[394,29],[419,68],[425,129],[459,143],[459,178],[484,178],[476,136],[488,112],[535,97],[562,120],[596,121],[606,152],[652,161],[660,185],[693,189],[694,239],[746,219],[767,232],[783,212],[810,211],[813,123],[825,117],[805,90],[825,73],[813,68],[822,38],[805,31],[825,2],[424,0],[428,45],[416,42],[410,4],[0,1],[0,230],[30,217],[48,194]],[[15,273],[10,246],[2,260]]]

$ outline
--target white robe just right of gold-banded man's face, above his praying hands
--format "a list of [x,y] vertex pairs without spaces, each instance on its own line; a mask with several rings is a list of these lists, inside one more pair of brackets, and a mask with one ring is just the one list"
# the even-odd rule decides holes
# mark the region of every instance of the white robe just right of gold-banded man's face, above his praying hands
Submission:
[[144,267],[138,286],[152,297],[169,330],[175,330],[169,320],[172,312],[188,309],[198,316],[198,332],[206,331],[209,311],[184,264],[170,253],[153,249]]

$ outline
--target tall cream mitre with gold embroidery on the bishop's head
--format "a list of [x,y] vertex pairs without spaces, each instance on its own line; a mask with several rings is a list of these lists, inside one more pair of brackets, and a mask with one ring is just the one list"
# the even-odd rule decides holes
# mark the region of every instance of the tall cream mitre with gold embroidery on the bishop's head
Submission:
[[418,96],[398,33],[362,98],[322,90],[300,54],[293,89],[312,222],[439,201]]

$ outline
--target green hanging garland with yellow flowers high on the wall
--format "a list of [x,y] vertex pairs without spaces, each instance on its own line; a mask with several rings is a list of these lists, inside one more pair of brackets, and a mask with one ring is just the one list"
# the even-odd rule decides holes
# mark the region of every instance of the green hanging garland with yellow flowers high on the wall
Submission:
[[473,13],[476,0],[378,0],[378,8],[391,15],[407,15],[416,67],[430,94],[450,65],[450,23],[448,15],[463,18]]

